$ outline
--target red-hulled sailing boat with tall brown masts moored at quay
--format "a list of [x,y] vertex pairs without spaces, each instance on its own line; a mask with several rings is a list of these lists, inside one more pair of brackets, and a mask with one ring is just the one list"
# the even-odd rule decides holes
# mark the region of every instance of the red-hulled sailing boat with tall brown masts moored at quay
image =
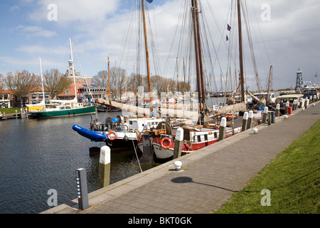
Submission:
[[[240,4],[238,5],[240,6]],[[212,145],[218,142],[219,130],[218,125],[204,123],[208,122],[208,108],[206,107],[206,95],[203,83],[203,63],[202,63],[202,51],[201,51],[201,36],[199,33],[199,21],[198,21],[198,2],[197,0],[191,0],[191,14],[193,21],[193,38],[196,57],[196,78],[197,88],[199,91],[198,103],[201,111],[201,116],[204,116],[203,120],[200,120],[200,125],[182,125],[183,128],[183,145],[181,154],[187,154],[199,150],[208,145]],[[240,28],[241,29],[241,28]],[[241,46],[241,43],[240,43]],[[240,48],[242,52],[242,49]],[[240,54],[240,62],[242,63],[242,54]],[[241,67],[242,71],[242,67]],[[240,83],[243,84],[243,75]],[[244,87],[241,86],[241,92],[244,93]],[[245,101],[244,95],[242,95],[242,101]],[[231,112],[235,107],[232,106]],[[204,123],[201,125],[201,123]],[[168,133],[169,132],[169,133]],[[225,138],[241,132],[241,128],[226,128]],[[171,133],[171,134],[170,134]],[[164,129],[164,133],[159,133],[155,136],[152,143],[154,153],[159,159],[169,159],[174,155],[176,129]],[[142,148],[142,142],[139,144],[139,148]]]

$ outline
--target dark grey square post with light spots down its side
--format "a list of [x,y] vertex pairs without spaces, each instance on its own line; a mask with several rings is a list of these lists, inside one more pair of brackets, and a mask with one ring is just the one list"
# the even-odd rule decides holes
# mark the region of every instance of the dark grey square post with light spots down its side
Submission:
[[75,180],[77,181],[79,209],[84,211],[85,209],[89,208],[89,198],[87,195],[87,174],[84,168],[75,170],[75,172],[77,174],[77,178]]

